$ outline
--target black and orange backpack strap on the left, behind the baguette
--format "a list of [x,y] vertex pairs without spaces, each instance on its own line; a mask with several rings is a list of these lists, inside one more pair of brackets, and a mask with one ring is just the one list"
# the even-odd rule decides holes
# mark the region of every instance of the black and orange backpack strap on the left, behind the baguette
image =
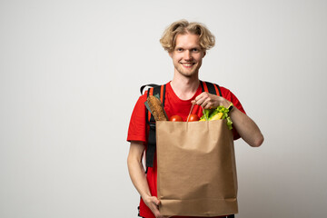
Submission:
[[[148,84],[147,86],[151,86],[151,85],[152,84]],[[159,96],[161,97],[161,99],[163,101],[163,106],[164,106],[165,88],[166,88],[165,84],[155,85],[152,88],[153,89],[152,94],[153,95],[159,94]],[[163,89],[163,92],[162,92],[162,89]],[[142,90],[142,92],[143,92],[143,90]],[[150,91],[147,94],[149,96]],[[161,94],[163,94],[163,96],[161,96]],[[154,116],[153,116],[153,114],[150,114],[150,120],[149,120],[149,111],[147,109],[145,110],[145,119],[146,119],[146,122],[150,126],[147,149],[146,149],[146,154],[145,154],[145,165],[146,165],[146,168],[147,168],[147,167],[154,167],[154,155],[155,155],[155,151],[156,151],[156,138],[155,138],[155,120],[154,120]]]

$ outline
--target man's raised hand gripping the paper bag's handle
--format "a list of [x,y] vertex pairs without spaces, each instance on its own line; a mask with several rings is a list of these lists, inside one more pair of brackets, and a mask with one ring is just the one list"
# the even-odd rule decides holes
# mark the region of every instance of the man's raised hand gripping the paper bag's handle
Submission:
[[212,109],[221,105],[228,107],[231,103],[221,96],[203,92],[196,96],[192,101],[192,104],[201,105],[204,109]]

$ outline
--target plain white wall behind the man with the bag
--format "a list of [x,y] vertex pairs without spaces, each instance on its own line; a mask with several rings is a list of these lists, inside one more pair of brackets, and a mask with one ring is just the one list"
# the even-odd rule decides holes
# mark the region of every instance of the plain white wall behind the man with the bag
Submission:
[[1,1],[0,217],[137,217],[125,141],[142,84],[172,79],[159,44],[186,18],[216,46],[265,142],[235,143],[240,218],[327,213],[327,2]]

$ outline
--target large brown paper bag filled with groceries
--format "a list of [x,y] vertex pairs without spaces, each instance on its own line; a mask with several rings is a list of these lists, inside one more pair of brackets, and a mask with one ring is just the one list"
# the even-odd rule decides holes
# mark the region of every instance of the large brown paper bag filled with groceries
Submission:
[[225,120],[156,122],[162,215],[238,213],[233,133]]

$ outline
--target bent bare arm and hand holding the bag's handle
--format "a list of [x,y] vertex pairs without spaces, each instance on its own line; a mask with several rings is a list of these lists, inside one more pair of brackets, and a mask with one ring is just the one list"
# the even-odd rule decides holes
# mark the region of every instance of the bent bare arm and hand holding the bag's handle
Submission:
[[[214,108],[219,105],[223,105],[227,108],[231,104],[231,102],[223,97],[209,93],[199,94],[193,103],[202,105],[205,109]],[[239,109],[233,107],[230,116],[233,121],[233,126],[247,144],[253,147],[258,147],[263,144],[263,134],[248,115],[243,114]]]

